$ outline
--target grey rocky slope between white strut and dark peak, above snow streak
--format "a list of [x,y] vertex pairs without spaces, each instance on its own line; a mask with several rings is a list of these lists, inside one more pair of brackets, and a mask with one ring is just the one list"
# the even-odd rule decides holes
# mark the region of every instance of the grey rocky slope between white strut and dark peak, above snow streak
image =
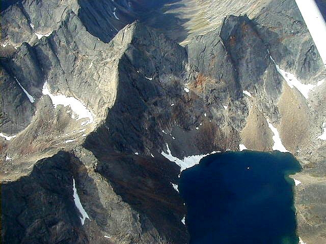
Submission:
[[304,83],[320,80],[324,66],[295,1],[271,1],[254,20],[261,25],[258,32],[282,69]]

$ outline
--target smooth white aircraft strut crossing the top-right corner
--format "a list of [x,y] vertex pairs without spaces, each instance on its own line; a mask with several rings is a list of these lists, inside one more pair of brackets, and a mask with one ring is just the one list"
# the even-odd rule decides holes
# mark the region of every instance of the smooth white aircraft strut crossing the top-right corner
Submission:
[[314,0],[295,0],[324,65],[326,65],[326,23]]

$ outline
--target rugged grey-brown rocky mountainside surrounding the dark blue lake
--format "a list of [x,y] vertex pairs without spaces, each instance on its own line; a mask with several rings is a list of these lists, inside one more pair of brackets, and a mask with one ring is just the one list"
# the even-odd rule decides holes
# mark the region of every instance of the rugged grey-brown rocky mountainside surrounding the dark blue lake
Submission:
[[324,243],[326,69],[293,0],[253,2],[185,47],[145,1],[2,6],[3,242],[185,243],[164,155],[279,149],[279,134],[304,168],[298,234]]

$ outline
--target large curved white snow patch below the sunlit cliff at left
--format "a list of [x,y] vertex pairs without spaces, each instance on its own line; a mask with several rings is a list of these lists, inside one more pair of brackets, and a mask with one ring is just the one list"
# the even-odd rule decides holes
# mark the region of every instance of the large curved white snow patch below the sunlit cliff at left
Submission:
[[[87,107],[80,102],[79,100],[73,98],[73,97],[66,97],[65,95],[52,95],[47,87],[47,82],[44,82],[43,89],[42,89],[43,95],[48,95],[51,100],[53,106],[56,108],[58,105],[63,105],[64,107],[70,106],[72,111],[78,115],[77,120],[82,118],[88,118],[88,121],[85,121],[82,123],[82,126],[88,125],[93,123],[94,117],[90,110],[87,109]],[[73,118],[73,115],[71,115]]]

